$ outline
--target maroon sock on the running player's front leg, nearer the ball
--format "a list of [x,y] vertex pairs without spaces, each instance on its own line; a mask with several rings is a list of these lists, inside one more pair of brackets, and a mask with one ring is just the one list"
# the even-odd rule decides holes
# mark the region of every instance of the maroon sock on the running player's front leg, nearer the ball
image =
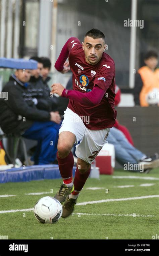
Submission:
[[[72,180],[72,168],[74,164],[73,154],[70,151],[69,155],[65,158],[59,158],[57,152],[57,161],[60,170],[60,174],[63,180],[68,180],[71,183]],[[67,182],[66,182],[67,183]]]

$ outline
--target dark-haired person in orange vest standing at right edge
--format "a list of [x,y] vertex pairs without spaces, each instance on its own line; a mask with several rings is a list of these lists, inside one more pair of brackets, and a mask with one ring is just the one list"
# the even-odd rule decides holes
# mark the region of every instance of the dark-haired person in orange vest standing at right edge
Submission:
[[146,66],[138,70],[134,88],[134,101],[136,105],[148,107],[159,106],[159,68],[158,55],[149,51],[144,57]]

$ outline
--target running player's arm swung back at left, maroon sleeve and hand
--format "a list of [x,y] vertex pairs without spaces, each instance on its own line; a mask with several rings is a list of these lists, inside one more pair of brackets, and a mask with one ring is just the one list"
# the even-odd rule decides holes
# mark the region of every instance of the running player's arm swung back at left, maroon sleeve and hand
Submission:
[[[61,73],[66,73],[69,71],[69,63],[66,62],[69,52],[71,51],[71,49],[75,46],[75,44],[79,44],[80,40],[78,40],[78,38],[76,37],[70,37],[67,42],[65,43],[65,45],[63,46],[61,53],[55,63],[55,68],[61,72]],[[81,43],[80,43],[81,44]]]

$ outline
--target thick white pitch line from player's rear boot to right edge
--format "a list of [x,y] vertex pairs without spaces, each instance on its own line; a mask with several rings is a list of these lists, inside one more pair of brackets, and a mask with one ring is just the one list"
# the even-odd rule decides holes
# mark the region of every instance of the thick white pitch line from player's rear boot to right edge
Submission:
[[137,200],[137,199],[154,198],[154,197],[159,197],[159,195],[135,196],[135,197],[127,197],[127,198],[116,198],[116,199],[88,201],[88,202],[83,202],[83,203],[77,203],[76,205],[86,205],[86,204],[94,204],[94,203],[107,203],[107,202],[114,202],[114,201]]

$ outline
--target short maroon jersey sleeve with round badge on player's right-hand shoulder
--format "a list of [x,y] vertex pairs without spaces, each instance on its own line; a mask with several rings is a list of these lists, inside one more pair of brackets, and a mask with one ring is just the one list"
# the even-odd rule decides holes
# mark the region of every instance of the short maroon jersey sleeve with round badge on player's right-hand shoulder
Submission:
[[103,64],[99,72],[96,74],[94,86],[98,85],[105,92],[115,80],[115,66],[113,63],[109,65]]

